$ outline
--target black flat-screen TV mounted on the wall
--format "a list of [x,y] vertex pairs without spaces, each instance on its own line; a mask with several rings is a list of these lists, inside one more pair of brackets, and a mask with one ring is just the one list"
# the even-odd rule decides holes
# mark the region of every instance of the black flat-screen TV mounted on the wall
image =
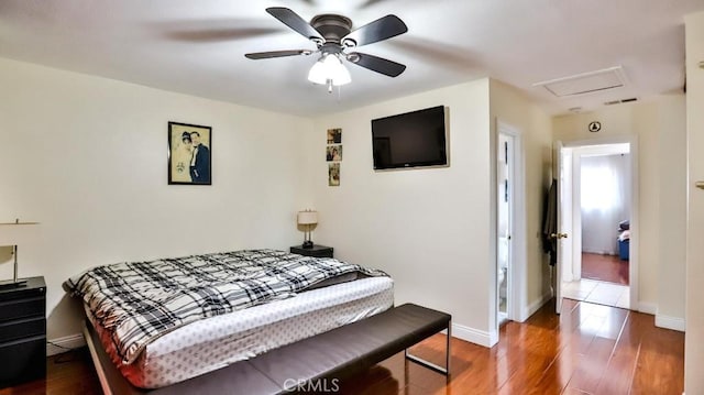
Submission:
[[374,169],[448,164],[444,107],[372,120]]

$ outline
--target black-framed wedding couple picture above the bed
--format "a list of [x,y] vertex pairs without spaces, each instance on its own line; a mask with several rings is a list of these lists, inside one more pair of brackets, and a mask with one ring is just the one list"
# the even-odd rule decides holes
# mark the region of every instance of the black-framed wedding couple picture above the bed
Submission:
[[168,184],[211,185],[212,130],[168,122]]

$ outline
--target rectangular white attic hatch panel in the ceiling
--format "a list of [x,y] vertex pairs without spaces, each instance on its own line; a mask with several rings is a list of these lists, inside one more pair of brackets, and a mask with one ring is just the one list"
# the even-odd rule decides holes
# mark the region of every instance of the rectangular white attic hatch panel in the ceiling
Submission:
[[626,86],[626,76],[620,66],[603,70],[578,74],[574,76],[536,83],[534,87],[543,87],[557,97],[592,94]]

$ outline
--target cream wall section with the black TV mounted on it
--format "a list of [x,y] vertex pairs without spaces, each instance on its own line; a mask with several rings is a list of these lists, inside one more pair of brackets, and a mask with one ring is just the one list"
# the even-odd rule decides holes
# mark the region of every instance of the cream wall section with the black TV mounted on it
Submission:
[[[488,79],[391,100],[315,120],[308,142],[318,229],[336,257],[378,267],[395,279],[396,304],[446,310],[486,343],[490,325]],[[371,120],[449,108],[450,166],[374,172]],[[341,185],[329,187],[326,130],[342,129]]]

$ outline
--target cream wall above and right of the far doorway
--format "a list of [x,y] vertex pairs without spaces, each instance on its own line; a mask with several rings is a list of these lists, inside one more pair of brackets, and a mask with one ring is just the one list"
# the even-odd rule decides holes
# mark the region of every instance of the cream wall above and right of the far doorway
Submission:
[[[672,95],[649,102],[606,107],[595,112],[553,119],[556,140],[581,141],[637,135],[639,295],[638,300],[634,300],[637,304],[631,301],[631,305],[651,314],[663,311],[669,326],[680,326],[684,319],[684,299],[681,297],[685,282],[682,272],[684,261],[676,259],[678,251],[685,249],[682,237],[685,232],[684,224],[676,219],[683,212],[683,207],[678,206],[684,194],[684,187],[678,180],[678,174],[685,172],[681,161],[678,161],[685,155],[685,146],[681,144],[685,133],[683,111],[683,95]],[[600,121],[602,131],[591,133],[587,130],[590,121]],[[664,146],[663,140],[669,140]],[[667,180],[663,179],[666,174]],[[673,205],[667,208],[668,213],[673,212],[667,219],[667,213],[662,212],[664,201]],[[668,235],[663,239],[664,233]],[[663,270],[669,271],[666,276],[661,275]]]

